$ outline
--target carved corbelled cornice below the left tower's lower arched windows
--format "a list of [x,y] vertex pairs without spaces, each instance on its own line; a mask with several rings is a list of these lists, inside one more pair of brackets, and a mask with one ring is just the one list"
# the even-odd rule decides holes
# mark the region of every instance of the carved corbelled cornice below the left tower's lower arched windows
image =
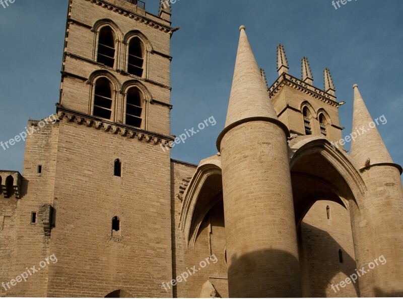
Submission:
[[169,142],[173,141],[174,138],[171,136],[165,136],[158,133],[142,130],[140,128],[133,128],[124,124],[117,124],[107,120],[97,118],[88,114],[84,114],[78,111],[66,109],[60,104],[56,103],[56,113],[58,115],[59,121],[65,119],[70,123],[75,123],[78,125],[86,125],[87,127],[92,127],[97,130],[104,130],[105,132],[111,134],[119,134],[120,136],[135,139],[139,141],[144,141],[146,143],[158,145],[163,144],[169,146]]

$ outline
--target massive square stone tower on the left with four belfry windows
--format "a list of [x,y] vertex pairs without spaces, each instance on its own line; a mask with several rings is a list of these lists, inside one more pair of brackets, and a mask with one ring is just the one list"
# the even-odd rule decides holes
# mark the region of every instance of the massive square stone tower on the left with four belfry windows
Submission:
[[57,122],[27,140],[5,277],[57,262],[8,295],[167,295],[169,20],[138,0],[69,0]]

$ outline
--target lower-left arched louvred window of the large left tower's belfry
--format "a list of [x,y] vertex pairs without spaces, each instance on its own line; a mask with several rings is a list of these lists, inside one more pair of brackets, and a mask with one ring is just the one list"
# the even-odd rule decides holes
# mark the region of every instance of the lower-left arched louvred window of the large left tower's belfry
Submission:
[[93,115],[108,120],[112,115],[112,85],[105,77],[95,82]]

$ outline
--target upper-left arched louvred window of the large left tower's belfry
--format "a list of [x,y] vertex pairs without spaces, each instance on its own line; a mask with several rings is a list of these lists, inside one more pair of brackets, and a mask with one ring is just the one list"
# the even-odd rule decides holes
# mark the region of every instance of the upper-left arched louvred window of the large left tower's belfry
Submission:
[[110,67],[115,64],[115,36],[109,26],[99,31],[97,61]]

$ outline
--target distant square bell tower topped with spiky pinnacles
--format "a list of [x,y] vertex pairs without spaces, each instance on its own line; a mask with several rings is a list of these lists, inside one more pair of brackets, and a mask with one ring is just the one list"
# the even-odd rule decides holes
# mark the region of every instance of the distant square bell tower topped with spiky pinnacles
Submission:
[[313,85],[312,71],[307,57],[301,61],[301,79],[289,74],[289,64],[283,45],[277,47],[279,77],[268,87],[279,120],[299,136],[321,135],[329,141],[342,138],[339,107],[329,69],[323,71],[323,87]]

